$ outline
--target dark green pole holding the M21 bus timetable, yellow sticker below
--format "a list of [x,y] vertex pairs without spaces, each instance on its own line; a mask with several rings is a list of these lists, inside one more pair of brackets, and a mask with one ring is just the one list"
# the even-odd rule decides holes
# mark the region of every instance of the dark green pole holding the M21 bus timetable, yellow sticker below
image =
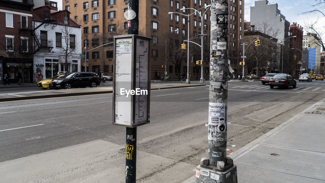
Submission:
[[[128,0],[129,9],[133,10],[136,17],[129,20],[130,27],[127,34],[139,34],[139,0]],[[125,183],[136,183],[136,127],[126,127],[125,149]],[[130,153],[131,156],[130,156]]]

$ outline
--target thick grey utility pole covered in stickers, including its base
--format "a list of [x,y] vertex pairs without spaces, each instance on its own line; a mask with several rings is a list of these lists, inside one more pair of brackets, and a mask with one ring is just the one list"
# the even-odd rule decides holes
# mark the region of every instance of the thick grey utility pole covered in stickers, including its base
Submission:
[[196,170],[196,183],[237,183],[237,168],[227,157],[228,0],[211,0],[208,157]]

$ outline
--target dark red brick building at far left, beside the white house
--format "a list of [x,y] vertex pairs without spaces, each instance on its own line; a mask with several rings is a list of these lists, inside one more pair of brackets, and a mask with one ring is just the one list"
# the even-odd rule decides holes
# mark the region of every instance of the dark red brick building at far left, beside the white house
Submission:
[[0,83],[4,74],[9,83],[17,83],[23,71],[25,82],[32,82],[32,14],[31,1],[0,0]]

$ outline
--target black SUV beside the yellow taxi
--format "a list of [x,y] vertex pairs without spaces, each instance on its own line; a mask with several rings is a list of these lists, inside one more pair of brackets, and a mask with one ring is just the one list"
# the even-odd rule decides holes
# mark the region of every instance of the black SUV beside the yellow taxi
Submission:
[[72,72],[51,81],[51,88],[54,89],[97,87],[98,85],[100,85],[99,77],[90,72]]

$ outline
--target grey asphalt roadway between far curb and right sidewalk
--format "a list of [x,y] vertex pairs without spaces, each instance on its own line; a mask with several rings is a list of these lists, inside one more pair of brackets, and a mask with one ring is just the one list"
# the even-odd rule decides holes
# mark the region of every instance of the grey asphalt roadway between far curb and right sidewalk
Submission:
[[[150,123],[137,127],[137,149],[199,164],[207,152],[208,87],[151,91]],[[229,82],[228,89],[231,153],[324,98],[325,81],[297,82],[297,88],[289,90],[270,89],[261,82]],[[125,145],[125,127],[112,124],[111,106],[111,94],[0,103],[0,162],[97,139]],[[146,182],[159,173],[137,179]],[[193,176],[190,171],[181,174],[182,179],[166,182]]]

